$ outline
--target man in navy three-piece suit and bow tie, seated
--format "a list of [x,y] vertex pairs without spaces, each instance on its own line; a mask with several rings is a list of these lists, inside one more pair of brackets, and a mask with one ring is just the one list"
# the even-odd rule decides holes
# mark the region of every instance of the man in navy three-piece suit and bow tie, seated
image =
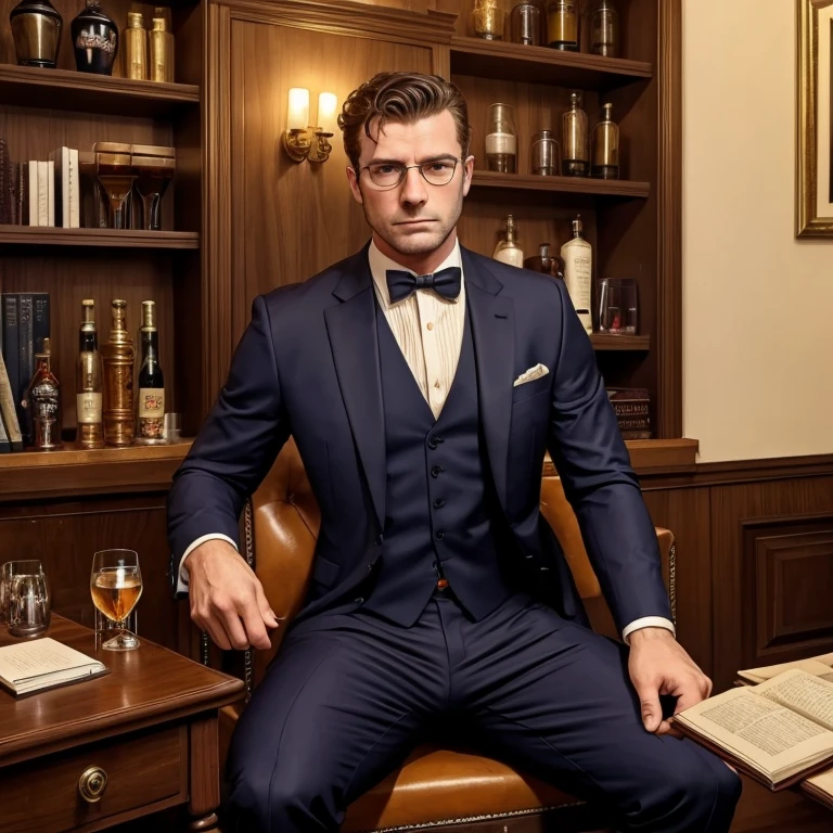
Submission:
[[[727,831],[736,776],[669,734],[709,681],[675,641],[653,525],[564,287],[461,247],[465,101],[387,73],[339,117],[372,241],[258,297],[170,495],[192,616],[221,648],[278,626],[236,551],[292,434],[321,507],[309,593],[229,756],[240,831],[337,830],[437,721],[606,800],[623,830]],[[586,627],[539,514],[549,449],[629,651]]]

